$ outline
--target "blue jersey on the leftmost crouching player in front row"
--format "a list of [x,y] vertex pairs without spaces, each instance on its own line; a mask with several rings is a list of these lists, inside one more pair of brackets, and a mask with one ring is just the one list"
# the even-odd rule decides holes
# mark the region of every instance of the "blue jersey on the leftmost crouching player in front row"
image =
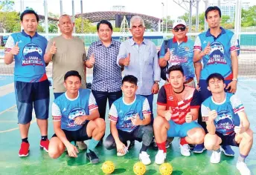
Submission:
[[97,104],[91,90],[80,89],[76,99],[68,99],[65,93],[54,99],[52,116],[54,121],[61,121],[63,130],[77,131],[83,125],[75,124],[74,119],[77,116],[89,115],[89,111],[95,108]]

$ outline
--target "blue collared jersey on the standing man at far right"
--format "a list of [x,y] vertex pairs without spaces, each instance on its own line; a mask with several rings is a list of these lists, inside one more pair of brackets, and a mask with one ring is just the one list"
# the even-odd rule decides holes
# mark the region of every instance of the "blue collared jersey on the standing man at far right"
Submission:
[[202,57],[203,68],[200,79],[207,79],[211,73],[220,73],[225,79],[233,79],[231,68],[231,52],[239,50],[237,39],[230,30],[220,27],[221,33],[214,37],[210,29],[200,33],[196,38],[194,50],[204,50],[208,42],[211,44],[211,52]]

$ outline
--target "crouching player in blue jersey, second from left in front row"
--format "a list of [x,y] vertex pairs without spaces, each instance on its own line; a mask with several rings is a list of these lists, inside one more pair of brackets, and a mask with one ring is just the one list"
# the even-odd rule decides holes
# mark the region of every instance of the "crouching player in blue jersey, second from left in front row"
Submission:
[[118,156],[127,153],[130,141],[142,142],[139,159],[144,165],[150,164],[147,148],[153,139],[153,128],[150,125],[150,105],[147,98],[136,95],[138,79],[135,76],[124,76],[122,91],[124,96],[115,100],[109,110],[110,131],[104,146],[110,150],[116,148]]

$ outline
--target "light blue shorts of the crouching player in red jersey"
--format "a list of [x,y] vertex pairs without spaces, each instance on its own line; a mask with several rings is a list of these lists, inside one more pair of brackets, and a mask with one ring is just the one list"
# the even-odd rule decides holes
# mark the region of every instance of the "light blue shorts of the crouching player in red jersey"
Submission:
[[193,128],[202,128],[197,122],[183,123],[182,125],[176,124],[173,120],[169,121],[170,129],[167,131],[168,137],[185,137],[188,136],[188,131]]

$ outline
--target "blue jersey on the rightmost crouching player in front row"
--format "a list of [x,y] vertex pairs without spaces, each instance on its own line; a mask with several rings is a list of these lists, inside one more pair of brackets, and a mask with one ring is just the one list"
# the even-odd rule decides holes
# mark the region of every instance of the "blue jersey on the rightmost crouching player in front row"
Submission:
[[225,93],[225,101],[214,102],[212,96],[202,102],[202,116],[208,116],[210,110],[217,111],[217,118],[214,119],[216,131],[228,135],[234,132],[234,126],[240,125],[240,118],[237,113],[244,110],[242,102],[233,93]]

